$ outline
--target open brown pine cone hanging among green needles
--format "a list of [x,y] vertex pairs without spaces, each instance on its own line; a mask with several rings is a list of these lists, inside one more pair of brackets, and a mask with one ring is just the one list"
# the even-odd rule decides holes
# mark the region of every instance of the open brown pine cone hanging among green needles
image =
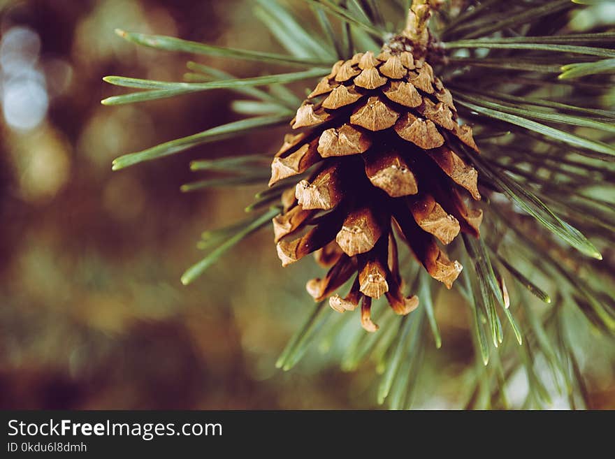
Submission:
[[277,253],[283,266],[314,252],[331,267],[307,282],[315,300],[356,274],[347,296],[329,303],[344,312],[363,298],[361,323],[369,331],[377,330],[372,298],[386,295],[398,314],[419,304],[402,293],[396,233],[451,288],[462,266],[437,240],[447,245],[460,231],[477,236],[482,220],[482,211],[464,203],[465,194],[480,199],[477,171],[460,157],[461,144],[478,152],[472,129],[458,123],[451,93],[431,65],[415,59],[403,38],[391,43],[378,56],[335,63],[297,110],[291,126],[304,130],[284,138],[269,182],[314,166],[283,195],[284,212],[273,219]]

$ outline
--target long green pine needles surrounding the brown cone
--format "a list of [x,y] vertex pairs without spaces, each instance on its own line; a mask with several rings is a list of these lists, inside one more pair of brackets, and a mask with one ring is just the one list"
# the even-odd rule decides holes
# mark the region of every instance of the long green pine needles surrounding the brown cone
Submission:
[[[254,3],[254,16],[286,53],[117,31],[126,41],[158,50],[258,61],[292,71],[236,78],[189,61],[184,82],[106,77],[112,85],[143,89],[105,99],[106,105],[229,89],[242,96],[232,104],[245,115],[120,156],[114,170],[288,124],[303,97],[284,85],[305,81],[306,89],[313,88],[338,59],[379,52],[403,29],[410,7],[403,0]],[[507,388],[521,372],[528,391],[517,407],[549,406],[554,394],[567,398],[572,408],[591,407],[584,349],[591,340],[612,343],[615,332],[615,31],[613,25],[590,24],[579,33],[571,22],[607,2],[431,3],[431,33],[441,57],[435,73],[451,90],[461,119],[474,130],[481,154],[466,153],[479,173],[479,186],[488,190],[480,204],[482,237],[464,236],[449,248],[465,267],[454,289],[468,305],[477,362],[460,377],[465,383],[459,406],[512,407]],[[306,10],[313,20],[298,19]],[[266,184],[272,157],[262,153],[193,161],[190,167],[197,173],[226,175],[205,177],[182,190]],[[266,189],[247,207],[247,219],[205,233],[198,247],[207,255],[184,273],[182,282],[192,282],[254,231],[270,231],[283,190],[284,183]],[[277,365],[294,367],[314,342],[341,342],[345,370],[365,360],[375,362],[382,374],[379,402],[386,400],[394,409],[412,407],[426,351],[442,344],[434,312],[442,286],[405,255],[403,277],[421,298],[418,309],[400,318],[379,308],[375,317],[381,329],[368,334],[349,319],[351,314],[335,314],[317,303]],[[541,301],[547,305],[537,305]],[[462,315],[460,321],[465,320]]]

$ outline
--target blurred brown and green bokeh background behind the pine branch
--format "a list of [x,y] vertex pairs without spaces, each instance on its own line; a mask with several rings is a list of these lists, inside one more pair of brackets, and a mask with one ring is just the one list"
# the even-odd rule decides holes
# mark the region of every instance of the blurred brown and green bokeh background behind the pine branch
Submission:
[[[375,369],[342,372],[325,347],[275,369],[317,269],[282,270],[270,231],[180,284],[201,232],[243,218],[261,189],[182,194],[195,180],[189,160],[270,151],[281,133],[112,173],[120,154],[237,119],[224,91],[103,107],[120,93],[103,75],[180,80],[189,58],[126,43],[116,27],[281,51],[249,1],[0,0],[0,408],[377,407]],[[438,372],[419,407],[455,407],[456,377],[473,361],[466,308],[441,303],[444,345],[428,356]],[[589,375],[593,407],[615,407],[613,372]]]

